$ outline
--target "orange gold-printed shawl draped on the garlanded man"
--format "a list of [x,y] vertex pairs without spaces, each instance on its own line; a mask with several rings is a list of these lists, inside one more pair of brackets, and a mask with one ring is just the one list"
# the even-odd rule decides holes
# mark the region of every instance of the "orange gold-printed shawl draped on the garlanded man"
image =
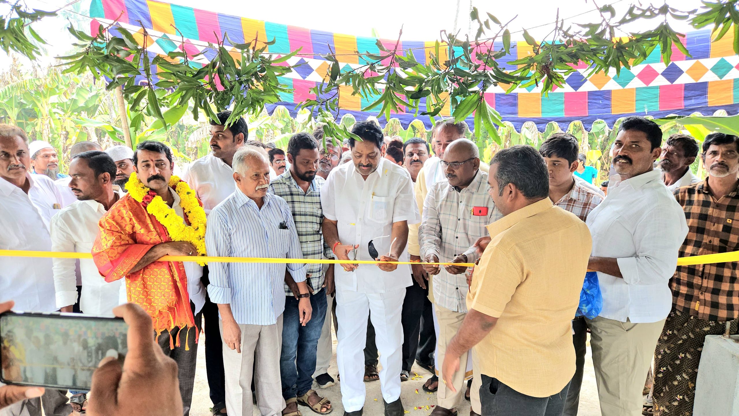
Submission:
[[154,245],[172,241],[166,228],[129,194],[110,208],[99,225],[92,259],[105,281],[126,278],[128,301],[149,313],[157,334],[174,327],[193,327],[195,318],[182,262],[152,262],[127,274]]

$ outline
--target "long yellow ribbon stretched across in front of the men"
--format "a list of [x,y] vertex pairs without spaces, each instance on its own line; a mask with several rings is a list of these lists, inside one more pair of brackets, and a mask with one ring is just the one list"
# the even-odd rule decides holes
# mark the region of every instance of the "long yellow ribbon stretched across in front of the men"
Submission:
[[[90,253],[70,253],[64,251],[0,250],[0,257],[51,257],[52,259],[92,259]],[[223,263],[305,263],[308,265],[439,265],[472,267],[473,263],[427,263],[427,262],[378,262],[375,260],[327,260],[327,259],[276,259],[271,257],[216,257],[216,256],[163,256],[162,262],[223,262]],[[729,253],[704,254],[678,259],[678,266],[708,265],[712,263],[739,262],[739,251]]]

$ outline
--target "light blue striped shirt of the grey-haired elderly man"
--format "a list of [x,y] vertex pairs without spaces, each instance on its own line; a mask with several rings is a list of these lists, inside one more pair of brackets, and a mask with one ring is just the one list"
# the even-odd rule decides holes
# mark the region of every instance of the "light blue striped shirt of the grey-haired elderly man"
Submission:
[[[266,194],[260,210],[239,188],[208,216],[205,247],[208,256],[303,258],[287,202]],[[211,262],[208,295],[216,304],[231,304],[238,324],[276,324],[285,310],[286,267],[295,282],[305,281],[304,264]]]

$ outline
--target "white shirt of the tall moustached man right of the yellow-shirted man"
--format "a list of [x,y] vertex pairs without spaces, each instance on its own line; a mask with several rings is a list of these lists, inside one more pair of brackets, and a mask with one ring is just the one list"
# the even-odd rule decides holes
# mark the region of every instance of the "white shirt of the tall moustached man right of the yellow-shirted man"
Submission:
[[661,171],[624,181],[619,175],[610,177],[608,197],[590,211],[586,223],[593,235],[591,256],[616,258],[624,276],[598,272],[600,316],[635,324],[666,318],[672,307],[668,282],[688,227]]

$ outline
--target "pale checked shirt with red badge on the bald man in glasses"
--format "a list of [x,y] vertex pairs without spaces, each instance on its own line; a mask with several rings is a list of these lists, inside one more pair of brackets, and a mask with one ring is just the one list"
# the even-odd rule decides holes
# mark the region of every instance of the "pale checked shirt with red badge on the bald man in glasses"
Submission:
[[[450,262],[465,254],[467,262],[477,260],[477,250],[472,245],[488,235],[486,225],[503,218],[488,195],[488,188],[488,174],[478,170],[467,188],[457,190],[445,180],[429,189],[418,228],[421,259],[435,254],[439,262]],[[486,210],[484,215],[474,215]],[[467,312],[469,287],[465,273],[449,274],[441,267],[434,276],[433,288],[435,304],[454,312]]]

